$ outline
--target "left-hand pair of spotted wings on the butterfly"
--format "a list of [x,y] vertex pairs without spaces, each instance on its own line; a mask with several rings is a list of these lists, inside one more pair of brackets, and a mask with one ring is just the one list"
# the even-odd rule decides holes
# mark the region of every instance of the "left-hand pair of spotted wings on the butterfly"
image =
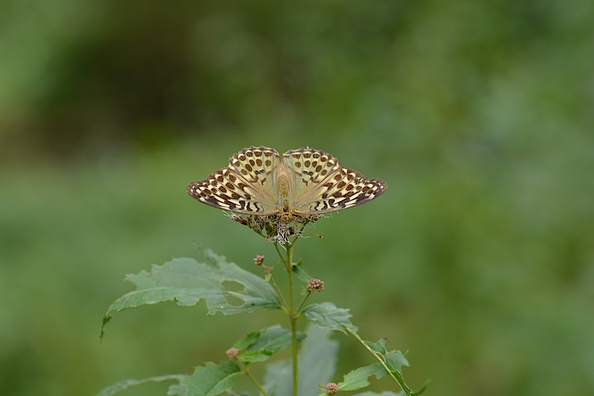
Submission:
[[196,200],[235,213],[269,216],[279,213],[276,178],[279,155],[268,147],[244,148],[229,159],[229,166],[188,185]]

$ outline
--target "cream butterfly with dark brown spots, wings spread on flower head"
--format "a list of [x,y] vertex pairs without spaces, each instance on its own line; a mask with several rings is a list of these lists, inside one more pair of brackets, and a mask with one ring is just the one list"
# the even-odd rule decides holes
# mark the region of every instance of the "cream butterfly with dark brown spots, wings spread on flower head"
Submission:
[[218,209],[254,216],[281,216],[285,222],[348,209],[374,200],[387,185],[338,165],[331,154],[298,148],[278,154],[250,146],[228,167],[187,187],[188,194]]

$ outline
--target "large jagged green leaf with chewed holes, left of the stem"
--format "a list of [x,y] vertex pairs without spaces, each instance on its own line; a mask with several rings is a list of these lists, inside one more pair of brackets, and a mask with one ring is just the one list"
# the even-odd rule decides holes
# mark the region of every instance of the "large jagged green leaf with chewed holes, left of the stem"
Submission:
[[[189,258],[173,259],[162,266],[153,265],[151,272],[128,275],[126,280],[134,283],[136,290],[124,294],[108,308],[102,334],[114,312],[163,301],[190,306],[204,299],[209,315],[281,308],[276,292],[264,279],[210,250],[206,250],[205,255],[209,259],[207,263]],[[239,291],[237,283],[241,286]]]

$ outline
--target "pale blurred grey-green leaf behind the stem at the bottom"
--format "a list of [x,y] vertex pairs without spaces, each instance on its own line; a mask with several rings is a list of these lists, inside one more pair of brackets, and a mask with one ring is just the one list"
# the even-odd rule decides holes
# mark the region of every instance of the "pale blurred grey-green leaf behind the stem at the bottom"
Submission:
[[[318,384],[326,384],[334,375],[338,342],[331,340],[331,331],[309,325],[307,339],[302,343],[298,358],[299,395],[317,395]],[[292,395],[292,364],[282,360],[270,364],[264,375],[264,389],[269,396]]]

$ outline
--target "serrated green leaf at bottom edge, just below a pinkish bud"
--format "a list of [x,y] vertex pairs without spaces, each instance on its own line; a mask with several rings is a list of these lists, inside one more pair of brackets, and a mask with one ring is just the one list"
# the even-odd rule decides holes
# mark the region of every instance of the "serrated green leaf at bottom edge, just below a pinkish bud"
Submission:
[[230,391],[235,377],[241,373],[239,366],[224,361],[221,364],[207,362],[204,367],[196,367],[192,375],[182,380],[180,385],[169,387],[167,395],[215,396]]

